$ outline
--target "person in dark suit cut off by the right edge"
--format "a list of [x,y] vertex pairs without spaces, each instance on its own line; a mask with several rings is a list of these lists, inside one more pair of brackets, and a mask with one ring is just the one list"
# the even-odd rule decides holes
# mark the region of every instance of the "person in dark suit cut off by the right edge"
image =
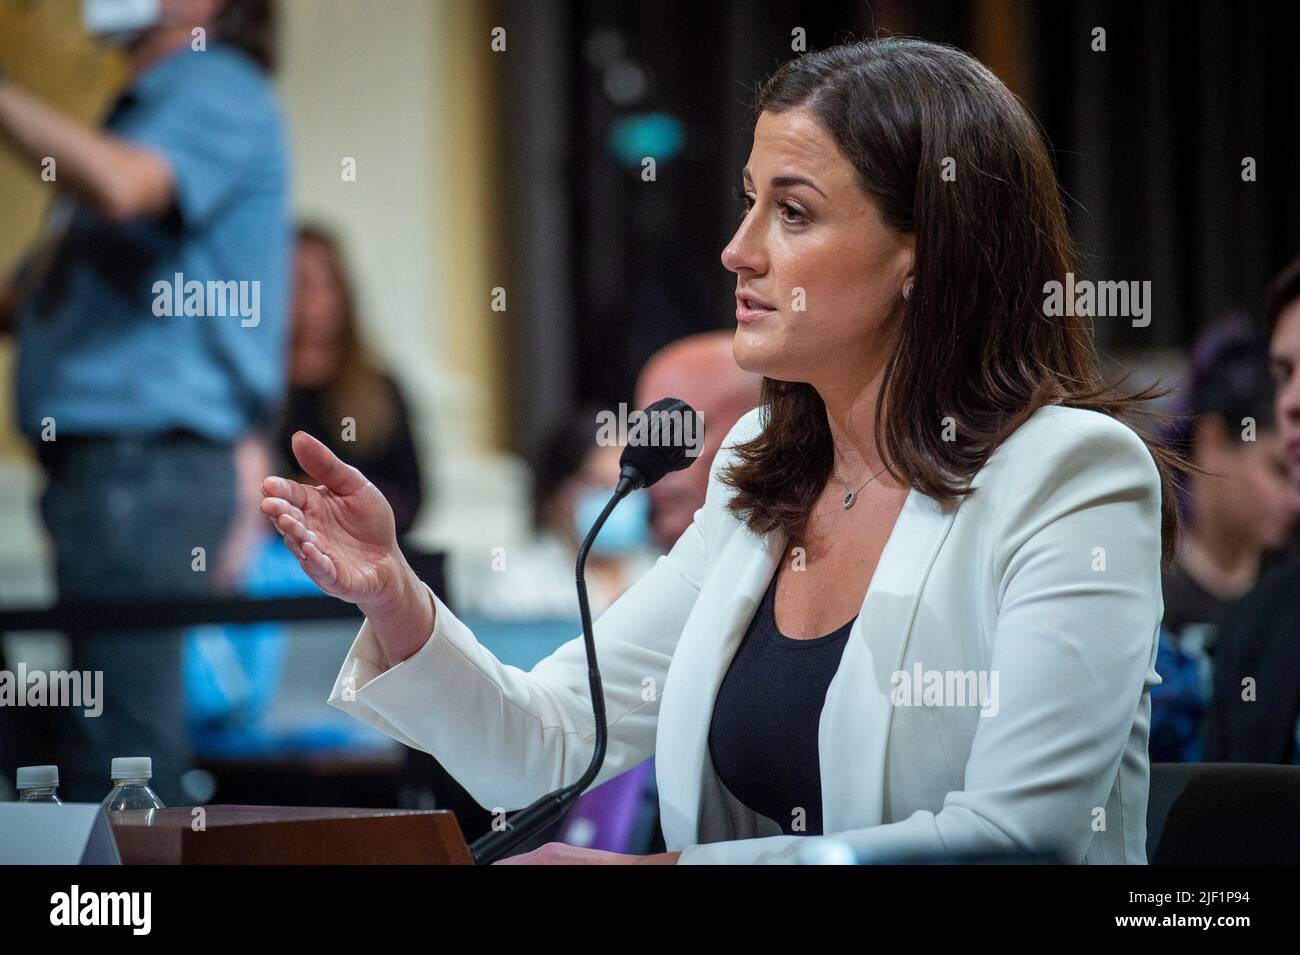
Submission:
[[[1269,286],[1264,322],[1277,429],[1300,489],[1300,259]],[[1287,559],[1223,616],[1206,760],[1300,763],[1300,552],[1291,543]]]

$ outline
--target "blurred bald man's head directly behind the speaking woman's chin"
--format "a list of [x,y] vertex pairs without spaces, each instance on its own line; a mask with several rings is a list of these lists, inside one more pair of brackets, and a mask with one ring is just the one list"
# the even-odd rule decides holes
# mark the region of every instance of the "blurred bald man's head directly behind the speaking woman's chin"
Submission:
[[732,356],[731,331],[706,331],[655,352],[637,378],[637,408],[671,395],[694,408],[705,421],[699,460],[666,476],[649,494],[655,543],[667,550],[690,526],[705,503],[708,468],[723,438],[741,416],[759,403],[762,379],[741,370]]

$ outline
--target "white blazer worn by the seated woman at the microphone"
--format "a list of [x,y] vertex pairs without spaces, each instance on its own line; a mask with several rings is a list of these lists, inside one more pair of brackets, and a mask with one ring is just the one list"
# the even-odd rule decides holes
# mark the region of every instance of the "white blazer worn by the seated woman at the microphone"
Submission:
[[[835,835],[878,860],[1057,850],[1145,864],[1164,603],[1160,476],[1138,434],[1046,405],[971,496],[907,495],[822,709],[826,835],[784,835],[725,790],[707,746],[718,687],[785,552],[784,535],[727,511],[718,481],[760,413],[728,434],[672,551],[595,621],[608,750],[593,786],[655,756],[679,863],[798,861]],[[429,641],[391,669],[364,624],[329,703],[432,754],[489,809],[578,778],[595,733],[581,637],[524,672],[433,600]],[[953,693],[909,700],[933,672]],[[953,682],[980,673],[996,689],[983,708]]]

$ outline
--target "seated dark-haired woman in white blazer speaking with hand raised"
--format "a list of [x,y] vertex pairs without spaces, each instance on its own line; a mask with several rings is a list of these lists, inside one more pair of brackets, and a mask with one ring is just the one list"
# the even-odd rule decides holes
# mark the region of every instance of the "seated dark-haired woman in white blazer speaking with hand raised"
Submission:
[[[516,861],[1145,863],[1178,459],[1126,424],[1152,395],[1098,378],[1087,320],[1045,312],[1075,261],[1037,127],[968,55],[902,38],[792,60],[755,112],[722,257],[763,404],[595,624],[593,785],[654,755],[670,851]],[[368,617],[329,702],[484,806],[577,778],[582,641],[500,665],[365,478],[294,452],[318,486],[268,478],[263,511]]]

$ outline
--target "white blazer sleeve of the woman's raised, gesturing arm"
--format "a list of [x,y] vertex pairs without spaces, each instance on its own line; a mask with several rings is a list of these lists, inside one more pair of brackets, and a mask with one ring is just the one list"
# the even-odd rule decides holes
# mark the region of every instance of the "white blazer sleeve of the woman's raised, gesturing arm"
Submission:
[[[719,452],[712,463],[708,499],[672,550],[593,624],[608,739],[592,787],[654,755],[659,693],[699,594],[710,528],[720,515],[723,457]],[[525,672],[500,663],[437,594],[429,595],[436,615],[428,642],[385,669],[367,621],[328,702],[433,755],[489,809],[521,808],[577,780],[595,747],[582,635]]]

